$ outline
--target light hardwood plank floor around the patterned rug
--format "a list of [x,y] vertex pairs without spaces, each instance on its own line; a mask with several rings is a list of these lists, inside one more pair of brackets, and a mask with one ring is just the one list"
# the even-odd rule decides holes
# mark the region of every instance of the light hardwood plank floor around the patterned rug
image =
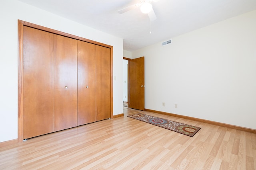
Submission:
[[[148,115],[202,127],[189,137],[127,115]],[[0,148],[1,170],[255,170],[256,134],[124,108],[107,119]]]

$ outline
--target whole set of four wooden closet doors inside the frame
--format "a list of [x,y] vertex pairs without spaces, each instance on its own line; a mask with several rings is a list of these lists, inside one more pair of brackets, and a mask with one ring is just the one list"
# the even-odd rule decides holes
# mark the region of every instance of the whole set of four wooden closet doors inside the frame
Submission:
[[111,117],[111,51],[23,26],[23,139]]

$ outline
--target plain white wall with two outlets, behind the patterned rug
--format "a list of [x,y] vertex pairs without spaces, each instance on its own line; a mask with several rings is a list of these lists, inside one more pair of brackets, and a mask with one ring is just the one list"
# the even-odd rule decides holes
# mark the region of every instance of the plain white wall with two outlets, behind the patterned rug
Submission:
[[132,53],[141,56],[145,108],[256,129],[256,10]]

